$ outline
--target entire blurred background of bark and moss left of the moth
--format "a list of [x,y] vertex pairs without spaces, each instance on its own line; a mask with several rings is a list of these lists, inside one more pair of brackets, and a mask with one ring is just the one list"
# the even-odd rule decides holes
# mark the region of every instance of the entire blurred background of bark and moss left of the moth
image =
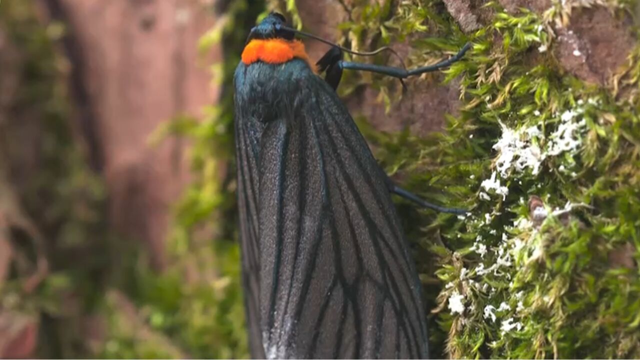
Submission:
[[0,357],[247,356],[226,74],[261,12],[0,1]]

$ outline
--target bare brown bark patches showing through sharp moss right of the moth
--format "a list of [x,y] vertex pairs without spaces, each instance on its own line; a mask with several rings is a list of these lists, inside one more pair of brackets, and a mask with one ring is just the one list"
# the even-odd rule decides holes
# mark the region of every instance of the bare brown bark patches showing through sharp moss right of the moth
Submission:
[[[472,33],[486,26],[493,18],[493,10],[483,7],[482,0],[445,0],[447,11],[456,19],[465,33]],[[500,0],[509,13],[525,8],[542,14],[552,6],[550,0]],[[321,37],[338,40],[337,26],[351,19],[354,2],[344,1],[296,1],[305,29]],[[589,83],[607,85],[607,79],[627,60],[627,54],[635,44],[630,19],[616,19],[602,7],[581,8],[572,13],[568,26],[554,29],[557,44],[554,52],[561,66],[577,78]],[[407,44],[392,44],[401,56],[408,54]],[[307,42],[312,59],[320,58],[328,47],[319,42]],[[394,61],[391,59],[391,61]],[[540,61],[532,52],[531,61]],[[403,99],[385,113],[378,99],[378,92],[371,88],[356,91],[345,99],[351,114],[364,115],[372,126],[381,131],[399,131],[408,127],[411,133],[425,135],[439,131],[446,114],[458,115],[458,83],[442,84],[442,75],[432,74],[429,81],[409,81]]]

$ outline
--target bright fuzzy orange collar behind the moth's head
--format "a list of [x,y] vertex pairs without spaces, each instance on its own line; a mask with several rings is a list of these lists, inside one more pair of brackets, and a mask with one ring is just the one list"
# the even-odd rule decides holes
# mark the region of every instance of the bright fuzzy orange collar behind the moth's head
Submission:
[[307,61],[309,67],[316,72],[316,65],[311,63],[305,51],[305,44],[300,40],[273,39],[253,39],[246,44],[242,52],[242,62],[245,65],[263,61],[270,64],[285,63],[293,58]]

